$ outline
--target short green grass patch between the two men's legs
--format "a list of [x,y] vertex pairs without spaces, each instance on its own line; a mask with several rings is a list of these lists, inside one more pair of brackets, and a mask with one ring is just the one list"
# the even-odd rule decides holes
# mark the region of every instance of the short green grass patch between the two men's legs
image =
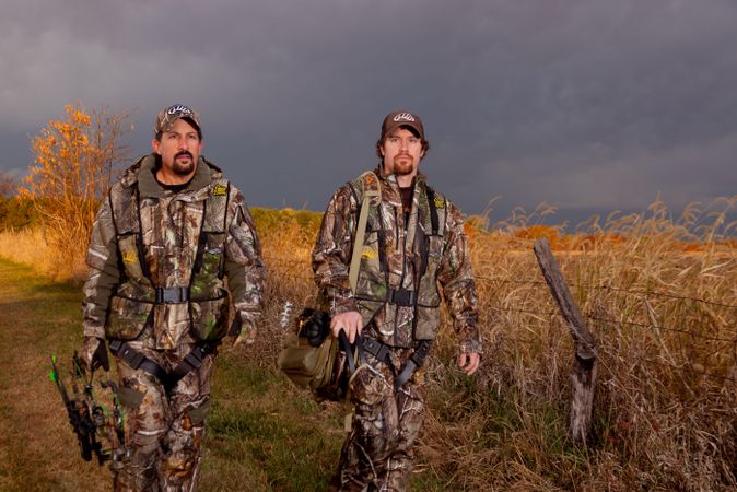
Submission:
[[273,368],[224,359],[207,422],[212,464],[258,469],[264,490],[325,490],[343,437],[339,408],[318,405]]

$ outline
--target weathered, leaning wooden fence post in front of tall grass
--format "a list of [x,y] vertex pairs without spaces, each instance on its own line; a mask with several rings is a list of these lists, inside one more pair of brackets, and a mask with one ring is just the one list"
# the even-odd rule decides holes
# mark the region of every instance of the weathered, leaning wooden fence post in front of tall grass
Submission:
[[596,341],[588,331],[578,306],[558,268],[547,239],[535,242],[535,256],[542,270],[550,292],[561,309],[575,343],[574,365],[571,372],[573,400],[571,402],[570,431],[573,440],[586,443],[592,425],[594,386],[596,383]]

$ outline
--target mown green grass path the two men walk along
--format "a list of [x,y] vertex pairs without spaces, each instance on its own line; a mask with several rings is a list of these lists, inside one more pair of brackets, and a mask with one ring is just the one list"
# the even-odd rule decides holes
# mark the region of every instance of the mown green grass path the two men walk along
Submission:
[[[109,490],[84,462],[48,356],[65,367],[80,345],[81,292],[0,260],[0,490]],[[244,351],[225,351],[213,378],[202,490],[303,491],[327,487],[340,449],[340,408],[317,405]],[[67,382],[69,384],[69,382]]]

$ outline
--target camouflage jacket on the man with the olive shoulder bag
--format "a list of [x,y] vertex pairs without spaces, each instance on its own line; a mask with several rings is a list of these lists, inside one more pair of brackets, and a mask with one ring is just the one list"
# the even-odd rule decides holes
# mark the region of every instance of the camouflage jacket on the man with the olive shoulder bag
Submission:
[[[460,212],[419,174],[406,215],[396,177],[383,175],[381,166],[374,173],[338,189],[323,218],[313,270],[331,314],[358,311],[364,333],[391,347],[413,347],[437,335],[440,284],[460,351],[480,353],[476,289]],[[368,211],[353,292],[348,276],[355,229],[364,188],[372,186],[374,175],[381,203]],[[435,203],[435,224],[429,195]]]

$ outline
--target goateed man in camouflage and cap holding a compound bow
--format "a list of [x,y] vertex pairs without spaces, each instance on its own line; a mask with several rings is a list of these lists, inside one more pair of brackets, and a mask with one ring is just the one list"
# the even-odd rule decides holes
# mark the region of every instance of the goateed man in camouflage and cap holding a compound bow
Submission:
[[152,145],[95,218],[82,359],[107,371],[106,341],[116,356],[128,453],[114,489],[194,490],[217,347],[229,326],[253,341],[265,269],[243,195],[200,155],[197,113],[160,112]]

